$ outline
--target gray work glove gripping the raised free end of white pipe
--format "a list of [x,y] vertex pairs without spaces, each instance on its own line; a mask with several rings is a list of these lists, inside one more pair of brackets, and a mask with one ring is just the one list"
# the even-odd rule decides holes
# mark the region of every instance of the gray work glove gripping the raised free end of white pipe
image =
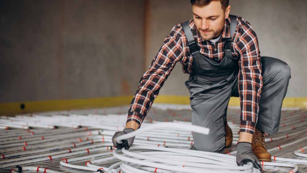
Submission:
[[125,149],[129,149],[131,144],[133,144],[133,141],[134,141],[134,137],[131,137],[131,138],[128,138],[128,139],[124,139],[124,140],[121,140],[122,141],[122,144],[119,144],[116,142],[116,139],[117,137],[119,136],[122,136],[122,135],[125,135],[127,133],[130,133],[130,132],[133,132],[134,129],[133,128],[125,128],[124,130],[122,131],[119,131],[119,132],[115,132],[114,136],[112,137],[112,142],[113,142],[113,145],[118,148],[118,149],[122,149],[123,147],[125,147]]

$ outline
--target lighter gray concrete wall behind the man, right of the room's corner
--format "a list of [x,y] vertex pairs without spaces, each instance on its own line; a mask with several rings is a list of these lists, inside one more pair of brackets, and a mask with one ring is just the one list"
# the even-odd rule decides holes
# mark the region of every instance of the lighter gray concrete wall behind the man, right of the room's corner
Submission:
[[[306,97],[307,79],[307,1],[305,0],[231,0],[231,14],[242,16],[255,29],[262,56],[279,58],[291,67],[288,97]],[[146,67],[157,54],[164,38],[177,23],[192,18],[188,0],[150,1]],[[188,95],[178,63],[160,95]]]

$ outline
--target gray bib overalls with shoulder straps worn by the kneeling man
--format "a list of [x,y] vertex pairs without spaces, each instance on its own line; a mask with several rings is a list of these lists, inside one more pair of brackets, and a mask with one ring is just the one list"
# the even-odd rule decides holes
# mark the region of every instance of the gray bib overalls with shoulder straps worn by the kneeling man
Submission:
[[[236,29],[236,16],[230,15],[231,38]],[[185,82],[190,92],[192,124],[207,127],[209,135],[193,133],[193,148],[200,151],[222,153],[225,148],[225,123],[231,96],[239,97],[239,59],[231,55],[230,38],[226,42],[225,56],[218,62],[200,54],[188,22],[182,23],[193,57],[193,73]],[[262,57],[263,87],[259,102],[257,128],[268,134],[278,132],[282,101],[290,80],[290,67],[283,61]],[[239,117],[239,114],[238,114]]]

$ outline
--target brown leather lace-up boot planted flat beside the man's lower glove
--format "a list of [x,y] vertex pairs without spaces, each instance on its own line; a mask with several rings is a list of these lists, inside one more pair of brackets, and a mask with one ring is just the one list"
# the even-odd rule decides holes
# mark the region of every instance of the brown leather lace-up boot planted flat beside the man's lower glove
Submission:
[[266,150],[266,144],[264,143],[264,132],[256,128],[254,137],[252,140],[252,150],[258,157],[259,161],[270,162],[271,154]]

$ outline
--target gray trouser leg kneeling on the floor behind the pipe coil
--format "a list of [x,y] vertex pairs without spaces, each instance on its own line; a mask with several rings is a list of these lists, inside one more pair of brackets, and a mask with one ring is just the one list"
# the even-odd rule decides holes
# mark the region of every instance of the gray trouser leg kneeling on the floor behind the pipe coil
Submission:
[[191,93],[192,124],[210,129],[208,135],[193,132],[193,149],[223,152],[226,111],[234,83],[223,80],[208,84],[198,79],[186,82]]

